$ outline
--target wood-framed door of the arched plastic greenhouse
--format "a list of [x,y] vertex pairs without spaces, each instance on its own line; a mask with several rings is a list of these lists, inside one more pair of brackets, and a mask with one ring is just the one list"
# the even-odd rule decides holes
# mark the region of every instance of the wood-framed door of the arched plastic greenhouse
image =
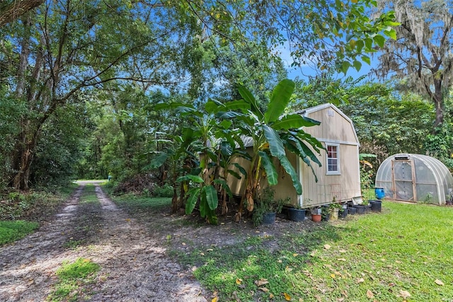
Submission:
[[391,161],[394,199],[415,202],[415,168],[412,160]]

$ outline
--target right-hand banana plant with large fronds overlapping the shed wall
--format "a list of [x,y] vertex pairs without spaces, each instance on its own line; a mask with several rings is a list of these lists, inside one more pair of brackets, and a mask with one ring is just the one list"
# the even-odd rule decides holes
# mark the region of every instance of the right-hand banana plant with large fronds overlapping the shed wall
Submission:
[[283,115],[294,91],[293,81],[285,79],[275,86],[265,112],[260,110],[256,99],[247,88],[239,86],[238,90],[241,100],[226,103],[223,107],[217,104],[217,115],[222,119],[234,120],[234,125],[240,129],[242,136],[253,141],[251,165],[246,175],[246,187],[236,220],[241,218],[244,205],[248,211],[253,211],[263,174],[266,175],[269,185],[277,185],[278,173],[273,163],[274,158],[277,158],[291,177],[297,194],[302,194],[299,176],[289,162],[287,152],[302,158],[314,173],[311,163],[321,166],[316,153],[319,154],[321,149],[324,149],[316,138],[303,129],[319,125],[320,122],[299,114]]

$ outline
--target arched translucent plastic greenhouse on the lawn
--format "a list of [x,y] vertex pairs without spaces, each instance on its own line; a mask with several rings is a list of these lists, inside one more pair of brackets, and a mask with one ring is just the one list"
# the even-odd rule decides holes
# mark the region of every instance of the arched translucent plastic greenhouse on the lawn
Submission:
[[445,204],[453,191],[453,177],[436,158],[401,153],[379,166],[376,187],[384,188],[387,199]]

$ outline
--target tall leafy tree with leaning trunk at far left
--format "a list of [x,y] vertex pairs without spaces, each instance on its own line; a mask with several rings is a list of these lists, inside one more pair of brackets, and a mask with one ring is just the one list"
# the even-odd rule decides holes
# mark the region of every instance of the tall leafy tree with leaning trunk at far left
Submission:
[[[12,149],[11,185],[28,189],[35,148],[42,126],[78,94],[103,88],[110,81],[163,84],[171,66],[163,61],[171,25],[159,27],[158,12],[151,21],[143,11],[123,1],[48,1],[38,13],[1,28],[1,61],[11,87],[9,98],[25,103],[27,113],[18,121],[21,131]],[[182,30],[184,33],[185,31]],[[175,36],[172,36],[175,38]],[[16,43],[16,44],[15,44]]]

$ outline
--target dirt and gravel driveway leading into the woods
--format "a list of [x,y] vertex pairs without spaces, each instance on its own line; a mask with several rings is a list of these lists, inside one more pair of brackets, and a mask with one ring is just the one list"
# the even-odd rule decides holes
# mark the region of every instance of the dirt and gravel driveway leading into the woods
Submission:
[[0,301],[45,301],[55,271],[79,257],[101,265],[89,301],[206,301],[191,272],[166,257],[161,236],[118,209],[101,187],[101,206],[79,204],[84,185],[52,222],[0,248]]

